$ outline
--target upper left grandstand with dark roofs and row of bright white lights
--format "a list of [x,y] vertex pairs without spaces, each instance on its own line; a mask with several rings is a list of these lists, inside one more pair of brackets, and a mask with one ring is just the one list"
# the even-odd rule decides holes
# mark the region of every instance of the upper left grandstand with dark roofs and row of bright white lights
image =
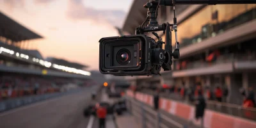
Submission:
[[[20,46],[23,41],[28,42],[28,40],[42,38],[42,36],[25,28],[3,13],[0,13],[0,18],[2,71],[39,75],[42,74],[42,70],[47,70],[47,75],[49,76],[80,78],[90,76],[90,72],[81,70],[81,68],[86,67],[85,65],[70,63],[55,58],[47,58],[48,61],[46,61],[37,50],[21,49]],[[67,73],[62,71],[66,71]],[[74,74],[70,74],[69,72]]]

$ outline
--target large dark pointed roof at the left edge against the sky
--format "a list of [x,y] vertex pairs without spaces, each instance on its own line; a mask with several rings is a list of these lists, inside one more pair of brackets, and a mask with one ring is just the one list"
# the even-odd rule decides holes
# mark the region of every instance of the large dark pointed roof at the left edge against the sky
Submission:
[[0,12],[0,36],[4,36],[13,42],[42,38],[42,36],[25,28],[2,12]]

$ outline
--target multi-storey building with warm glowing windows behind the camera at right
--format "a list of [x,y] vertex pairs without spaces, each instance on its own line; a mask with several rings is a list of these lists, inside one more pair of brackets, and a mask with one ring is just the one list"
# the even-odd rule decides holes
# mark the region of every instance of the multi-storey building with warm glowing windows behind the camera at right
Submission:
[[[122,28],[125,33],[134,34],[147,17],[145,3],[134,0]],[[256,4],[177,5],[176,11],[180,59],[173,61],[172,72],[127,79],[137,86],[227,86],[228,102],[241,104],[239,88],[256,87]],[[157,19],[159,24],[172,23],[172,8],[161,6]],[[158,34],[164,40],[163,32]]]

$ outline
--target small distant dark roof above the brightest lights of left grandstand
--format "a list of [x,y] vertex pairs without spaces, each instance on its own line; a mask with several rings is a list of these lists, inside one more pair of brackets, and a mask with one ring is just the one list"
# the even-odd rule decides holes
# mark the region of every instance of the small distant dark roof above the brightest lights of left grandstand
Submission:
[[52,57],[46,58],[45,60],[49,61],[51,63],[56,63],[57,65],[65,65],[67,67],[72,67],[72,68],[77,68],[77,69],[82,69],[82,68],[87,68],[88,67],[88,66],[82,65],[80,63],[72,63],[72,62],[69,62],[67,60],[52,58]]

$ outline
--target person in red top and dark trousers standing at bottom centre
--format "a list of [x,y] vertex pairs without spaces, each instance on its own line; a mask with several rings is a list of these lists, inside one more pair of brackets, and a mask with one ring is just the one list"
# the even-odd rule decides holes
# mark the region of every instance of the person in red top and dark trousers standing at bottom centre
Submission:
[[97,108],[97,117],[99,118],[99,128],[105,128],[107,109],[100,106],[99,103],[96,104],[96,108]]

